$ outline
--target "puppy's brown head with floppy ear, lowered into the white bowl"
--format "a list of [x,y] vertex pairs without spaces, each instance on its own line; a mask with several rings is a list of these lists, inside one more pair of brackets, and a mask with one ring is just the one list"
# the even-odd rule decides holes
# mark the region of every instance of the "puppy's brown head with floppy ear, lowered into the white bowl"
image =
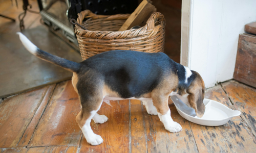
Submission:
[[195,109],[197,116],[201,118],[205,111],[205,106],[203,104],[205,86],[201,75],[196,71],[192,71],[192,73],[194,79],[187,88],[187,100],[191,107]]

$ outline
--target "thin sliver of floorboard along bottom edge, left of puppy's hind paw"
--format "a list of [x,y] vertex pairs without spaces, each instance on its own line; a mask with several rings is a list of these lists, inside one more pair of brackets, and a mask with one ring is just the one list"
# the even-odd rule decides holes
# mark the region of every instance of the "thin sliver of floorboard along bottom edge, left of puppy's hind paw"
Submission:
[[29,148],[27,153],[76,153],[77,146],[48,146]]

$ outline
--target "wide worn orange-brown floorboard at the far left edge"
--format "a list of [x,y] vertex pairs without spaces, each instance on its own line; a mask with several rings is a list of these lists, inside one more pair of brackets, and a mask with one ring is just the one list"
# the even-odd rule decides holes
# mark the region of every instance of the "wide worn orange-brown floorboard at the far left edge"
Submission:
[[14,147],[44,98],[49,86],[5,99],[0,104],[0,147]]

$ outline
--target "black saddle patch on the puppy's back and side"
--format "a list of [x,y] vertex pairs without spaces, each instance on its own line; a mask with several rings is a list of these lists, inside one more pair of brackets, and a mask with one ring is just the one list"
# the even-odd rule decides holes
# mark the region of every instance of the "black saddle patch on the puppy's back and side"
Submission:
[[173,62],[164,53],[113,50],[83,61],[79,73],[96,70],[122,98],[140,97],[156,88],[170,71],[175,72]]

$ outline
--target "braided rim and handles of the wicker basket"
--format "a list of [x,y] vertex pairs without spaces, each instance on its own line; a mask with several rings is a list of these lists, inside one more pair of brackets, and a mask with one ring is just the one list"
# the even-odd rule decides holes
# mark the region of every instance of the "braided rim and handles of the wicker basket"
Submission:
[[[123,20],[127,19],[130,14],[116,14],[116,15],[97,15],[92,13],[90,10],[84,10],[78,13],[77,23],[82,24],[84,18],[99,19],[104,18],[104,21],[110,20]],[[155,24],[159,22],[158,25]],[[74,33],[80,37],[93,38],[93,39],[125,39],[141,37],[145,34],[148,38],[153,37],[157,34],[160,27],[165,27],[164,15],[160,12],[154,12],[150,18],[148,18],[146,24],[139,29],[130,29],[125,31],[90,31],[83,30],[78,25],[75,25]]]

